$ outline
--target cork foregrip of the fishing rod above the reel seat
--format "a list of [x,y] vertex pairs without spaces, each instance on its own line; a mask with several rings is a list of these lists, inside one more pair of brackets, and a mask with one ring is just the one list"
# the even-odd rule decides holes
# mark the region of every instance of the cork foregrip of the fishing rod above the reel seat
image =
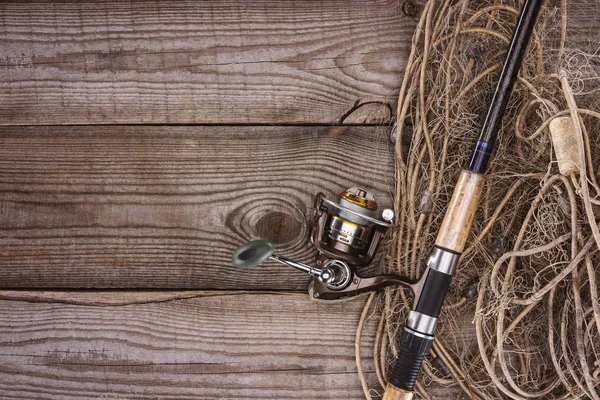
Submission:
[[435,245],[461,253],[471,231],[475,210],[483,191],[483,175],[472,171],[462,171],[448,210],[435,239]]

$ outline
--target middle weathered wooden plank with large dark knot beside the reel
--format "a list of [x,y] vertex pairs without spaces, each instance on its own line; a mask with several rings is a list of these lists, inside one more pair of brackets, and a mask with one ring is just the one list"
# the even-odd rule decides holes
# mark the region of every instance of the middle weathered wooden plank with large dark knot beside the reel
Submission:
[[387,127],[0,127],[0,287],[305,290],[231,254],[312,263],[316,193],[391,205],[392,152]]

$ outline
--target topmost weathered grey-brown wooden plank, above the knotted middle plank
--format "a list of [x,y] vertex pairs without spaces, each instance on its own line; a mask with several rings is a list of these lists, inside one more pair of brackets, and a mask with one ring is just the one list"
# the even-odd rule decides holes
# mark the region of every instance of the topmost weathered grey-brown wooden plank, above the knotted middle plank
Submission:
[[418,17],[402,10],[400,0],[4,1],[0,123],[390,120]]

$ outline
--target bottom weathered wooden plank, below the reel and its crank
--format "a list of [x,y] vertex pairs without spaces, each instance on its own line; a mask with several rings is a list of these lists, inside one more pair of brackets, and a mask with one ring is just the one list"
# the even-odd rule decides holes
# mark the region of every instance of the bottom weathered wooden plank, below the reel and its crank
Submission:
[[[60,293],[34,295],[36,303],[0,301],[2,399],[364,398],[354,361],[364,298],[322,304],[305,295],[204,293],[154,301],[147,293],[135,304],[113,292],[103,305],[80,293],[94,304],[86,306]],[[373,379],[376,320],[362,352]]]

